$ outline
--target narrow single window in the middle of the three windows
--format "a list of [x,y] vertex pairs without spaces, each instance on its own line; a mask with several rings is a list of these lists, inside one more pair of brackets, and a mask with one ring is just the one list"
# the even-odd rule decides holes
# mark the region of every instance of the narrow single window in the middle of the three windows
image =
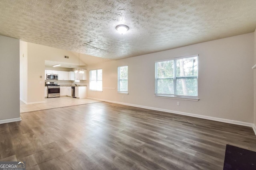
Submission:
[[128,93],[128,66],[118,67],[117,92]]

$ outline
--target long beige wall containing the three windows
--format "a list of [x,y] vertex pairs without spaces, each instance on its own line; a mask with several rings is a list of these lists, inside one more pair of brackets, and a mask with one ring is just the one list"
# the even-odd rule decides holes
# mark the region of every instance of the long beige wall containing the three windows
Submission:
[[[154,97],[155,61],[195,54],[199,55],[200,100]],[[103,69],[103,92],[88,91],[88,97],[252,123],[253,63],[254,33],[100,63],[87,70],[89,76],[89,70]],[[123,65],[128,65],[128,95],[117,94],[117,67]]]

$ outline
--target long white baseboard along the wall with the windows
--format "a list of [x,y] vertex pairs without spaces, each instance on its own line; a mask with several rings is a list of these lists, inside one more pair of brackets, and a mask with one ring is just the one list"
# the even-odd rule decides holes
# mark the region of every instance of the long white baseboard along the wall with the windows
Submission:
[[[136,105],[136,104],[128,104],[128,103],[115,102],[115,101],[96,99],[96,98],[90,98],[90,99],[102,100],[102,101],[105,101],[105,102],[122,104],[122,105],[126,105],[126,106],[140,107],[140,108],[156,110],[156,111],[164,111],[164,112],[168,112],[168,113],[175,113],[175,114],[178,114],[178,115],[198,117],[198,118],[202,118],[202,119],[220,121],[220,122],[224,122],[224,123],[230,123],[230,124],[235,124],[235,125],[242,125],[242,126],[247,126],[247,127],[253,127],[253,125],[254,125],[253,123],[248,123],[248,122],[243,122],[243,121],[236,121],[236,120],[230,120],[230,119],[222,119],[222,118],[218,118],[218,117],[211,117],[211,116],[205,116],[205,115],[197,115],[197,114],[193,114],[193,113],[186,113],[186,112],[174,111],[174,110],[168,110],[168,109],[160,109],[160,108],[156,108],[156,107],[141,106],[141,105]],[[256,129],[254,129],[254,132],[256,132]],[[255,133],[255,135],[256,135],[256,133]]]

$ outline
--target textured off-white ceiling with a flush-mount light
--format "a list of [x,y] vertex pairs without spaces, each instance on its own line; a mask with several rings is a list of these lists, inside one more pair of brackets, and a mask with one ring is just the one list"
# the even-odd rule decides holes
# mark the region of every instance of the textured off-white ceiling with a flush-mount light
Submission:
[[255,16],[256,0],[0,0],[0,35],[115,60],[250,33]]

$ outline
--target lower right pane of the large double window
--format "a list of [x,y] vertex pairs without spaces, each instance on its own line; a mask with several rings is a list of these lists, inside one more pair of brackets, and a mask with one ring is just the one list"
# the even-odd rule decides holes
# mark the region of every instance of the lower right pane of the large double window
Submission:
[[176,79],[176,95],[198,96],[197,78]]

